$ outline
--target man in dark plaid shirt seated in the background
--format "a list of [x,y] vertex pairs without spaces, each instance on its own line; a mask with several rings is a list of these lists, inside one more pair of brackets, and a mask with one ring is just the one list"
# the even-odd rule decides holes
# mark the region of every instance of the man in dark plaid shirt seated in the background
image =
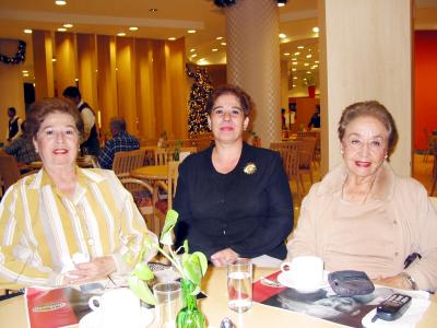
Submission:
[[105,142],[98,155],[98,165],[108,169],[113,168],[116,153],[140,149],[140,141],[126,131],[126,121],[122,117],[113,117],[109,129],[113,139]]

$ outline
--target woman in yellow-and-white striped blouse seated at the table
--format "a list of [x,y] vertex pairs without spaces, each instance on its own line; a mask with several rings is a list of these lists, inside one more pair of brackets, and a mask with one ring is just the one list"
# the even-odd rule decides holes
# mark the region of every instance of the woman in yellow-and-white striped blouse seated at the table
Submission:
[[1,200],[0,289],[56,288],[129,273],[143,238],[157,238],[113,171],[76,165],[83,121],[74,104],[35,102],[26,129],[43,168],[12,185]]

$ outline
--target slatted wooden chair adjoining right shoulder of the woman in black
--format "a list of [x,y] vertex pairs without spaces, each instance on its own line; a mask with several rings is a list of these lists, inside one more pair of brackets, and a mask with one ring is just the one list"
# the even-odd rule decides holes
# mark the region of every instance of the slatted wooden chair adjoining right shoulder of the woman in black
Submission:
[[296,194],[302,199],[303,194],[300,191],[304,190],[304,187],[298,173],[299,155],[297,152],[297,142],[272,142],[270,143],[270,149],[280,153],[288,181],[294,180],[296,183]]

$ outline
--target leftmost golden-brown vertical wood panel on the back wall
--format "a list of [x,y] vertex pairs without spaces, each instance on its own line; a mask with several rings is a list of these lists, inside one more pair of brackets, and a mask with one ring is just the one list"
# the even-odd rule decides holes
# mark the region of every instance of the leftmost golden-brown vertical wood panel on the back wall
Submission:
[[49,31],[32,32],[34,49],[35,98],[52,97],[54,85],[54,49]]

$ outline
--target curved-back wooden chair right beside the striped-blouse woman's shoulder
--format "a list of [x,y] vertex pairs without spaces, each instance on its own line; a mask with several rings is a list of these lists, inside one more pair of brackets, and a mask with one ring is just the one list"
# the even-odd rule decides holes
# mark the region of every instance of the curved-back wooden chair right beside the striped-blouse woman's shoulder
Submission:
[[131,177],[121,177],[120,181],[132,194],[133,200],[141,215],[144,218],[147,229],[156,234],[156,236],[160,236],[161,219],[155,213],[157,199],[153,187],[146,181]]

